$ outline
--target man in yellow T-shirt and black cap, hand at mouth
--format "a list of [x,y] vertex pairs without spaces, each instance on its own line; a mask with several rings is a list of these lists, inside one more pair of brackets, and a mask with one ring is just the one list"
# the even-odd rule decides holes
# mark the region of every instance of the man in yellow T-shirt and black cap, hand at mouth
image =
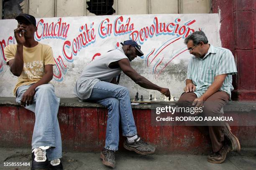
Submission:
[[5,57],[10,71],[18,77],[14,88],[16,101],[35,113],[32,137],[32,167],[37,169],[62,170],[61,134],[57,113],[59,98],[50,84],[55,65],[50,46],[34,39],[36,19],[20,14],[15,18],[18,28],[14,30],[17,45],[5,47]]

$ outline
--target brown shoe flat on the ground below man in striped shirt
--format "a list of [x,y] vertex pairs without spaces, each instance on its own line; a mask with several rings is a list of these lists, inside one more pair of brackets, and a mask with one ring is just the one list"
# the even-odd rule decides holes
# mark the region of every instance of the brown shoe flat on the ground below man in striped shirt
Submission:
[[208,155],[209,163],[223,163],[227,157],[230,148],[227,144],[225,144],[217,153],[212,153]]

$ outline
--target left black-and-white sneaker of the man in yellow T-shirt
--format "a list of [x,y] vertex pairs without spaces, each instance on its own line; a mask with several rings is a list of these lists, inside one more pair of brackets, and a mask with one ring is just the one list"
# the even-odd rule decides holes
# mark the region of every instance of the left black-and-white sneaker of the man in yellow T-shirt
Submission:
[[36,148],[32,153],[31,170],[48,170],[48,160],[46,150]]

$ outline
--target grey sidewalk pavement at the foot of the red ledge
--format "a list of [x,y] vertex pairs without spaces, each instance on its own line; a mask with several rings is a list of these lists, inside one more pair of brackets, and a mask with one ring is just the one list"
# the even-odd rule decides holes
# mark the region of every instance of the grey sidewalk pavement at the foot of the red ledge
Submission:
[[[105,167],[100,153],[63,152],[64,170],[111,170]],[[31,163],[31,150],[0,148],[0,170],[30,170],[29,166],[4,166],[4,163]],[[230,152],[222,164],[207,162],[207,155],[138,155],[120,151],[116,155],[115,170],[256,170],[256,148]]]

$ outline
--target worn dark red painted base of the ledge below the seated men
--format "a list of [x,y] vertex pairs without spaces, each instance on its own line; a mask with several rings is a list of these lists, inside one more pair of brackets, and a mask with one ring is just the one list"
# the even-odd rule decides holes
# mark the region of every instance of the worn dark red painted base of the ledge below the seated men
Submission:
[[[151,126],[151,110],[133,109],[137,131],[156,153],[209,153],[210,138],[191,126]],[[60,107],[59,125],[64,151],[100,152],[105,144],[105,108]],[[0,106],[0,147],[31,147],[35,117],[20,106]],[[242,147],[255,147],[256,128],[231,127]],[[123,150],[120,135],[120,150]]]

